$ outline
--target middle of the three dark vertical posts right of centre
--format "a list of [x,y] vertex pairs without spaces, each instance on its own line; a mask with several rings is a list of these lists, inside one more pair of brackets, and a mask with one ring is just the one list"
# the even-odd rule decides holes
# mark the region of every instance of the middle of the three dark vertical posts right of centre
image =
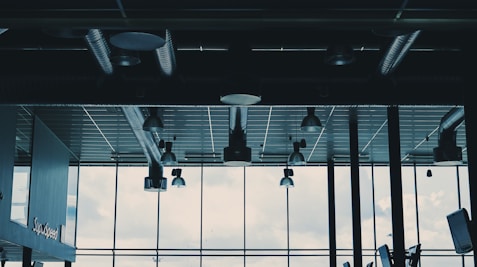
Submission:
[[356,107],[351,107],[349,110],[349,151],[351,164],[351,206],[353,216],[353,266],[363,266],[357,117]]

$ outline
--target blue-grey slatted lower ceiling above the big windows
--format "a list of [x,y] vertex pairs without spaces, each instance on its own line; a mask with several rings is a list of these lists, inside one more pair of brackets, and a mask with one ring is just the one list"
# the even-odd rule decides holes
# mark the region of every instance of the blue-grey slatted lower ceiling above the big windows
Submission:
[[[357,106],[358,150],[363,163],[387,163],[386,106]],[[452,106],[400,106],[401,154],[404,163],[432,164],[441,118]],[[300,148],[309,164],[349,162],[350,106],[316,106],[321,132],[302,132],[306,106],[249,106],[247,146],[259,165],[284,164],[293,142],[305,139]],[[148,114],[143,106],[144,117]],[[146,164],[143,150],[120,106],[23,106],[18,108],[17,146],[28,144],[31,115],[38,117],[85,164]],[[180,164],[221,164],[229,145],[229,106],[161,106],[165,129],[156,135],[173,142]],[[429,136],[429,141],[425,141]],[[175,137],[175,140],[174,140]],[[465,153],[465,123],[457,129],[457,145]]]

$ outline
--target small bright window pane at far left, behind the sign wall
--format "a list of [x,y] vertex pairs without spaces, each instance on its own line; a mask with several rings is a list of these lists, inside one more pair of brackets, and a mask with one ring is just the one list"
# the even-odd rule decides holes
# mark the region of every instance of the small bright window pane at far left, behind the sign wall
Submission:
[[10,219],[25,226],[28,223],[30,169],[30,166],[15,166],[13,168],[12,209]]

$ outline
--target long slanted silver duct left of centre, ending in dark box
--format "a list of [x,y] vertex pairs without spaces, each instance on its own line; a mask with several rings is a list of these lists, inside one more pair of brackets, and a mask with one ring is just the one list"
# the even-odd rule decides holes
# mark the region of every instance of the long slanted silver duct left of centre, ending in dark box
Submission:
[[137,107],[123,107],[122,109],[149,164],[149,176],[144,178],[144,190],[166,191],[167,178],[163,177],[163,166],[160,164],[161,151],[154,141],[152,133],[142,129],[144,115]]

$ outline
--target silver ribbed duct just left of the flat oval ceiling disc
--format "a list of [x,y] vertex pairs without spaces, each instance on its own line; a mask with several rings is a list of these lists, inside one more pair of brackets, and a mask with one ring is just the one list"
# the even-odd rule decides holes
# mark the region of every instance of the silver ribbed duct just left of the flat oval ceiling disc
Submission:
[[102,31],[99,29],[90,29],[85,39],[103,72],[108,75],[113,74],[113,64],[109,59],[111,50],[103,37]]

